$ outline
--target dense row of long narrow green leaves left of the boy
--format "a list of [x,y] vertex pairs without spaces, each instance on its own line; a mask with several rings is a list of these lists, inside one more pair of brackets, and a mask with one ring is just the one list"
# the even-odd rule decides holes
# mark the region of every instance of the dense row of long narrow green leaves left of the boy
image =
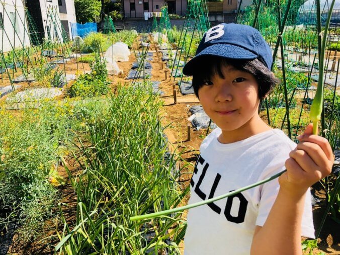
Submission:
[[187,190],[176,179],[174,154],[167,152],[159,120],[160,101],[151,87],[119,88],[104,118],[79,140],[81,174],[69,176],[77,193],[76,221],[62,218],[56,251],[64,254],[179,253],[185,224],[180,214],[160,221],[130,216],[176,207]]

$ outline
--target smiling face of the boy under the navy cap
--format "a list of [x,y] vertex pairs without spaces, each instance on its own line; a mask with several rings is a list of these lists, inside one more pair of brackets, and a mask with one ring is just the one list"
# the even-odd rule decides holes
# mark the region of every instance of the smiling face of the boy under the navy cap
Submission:
[[200,102],[222,134],[247,132],[260,119],[258,83],[252,74],[231,65],[221,66],[221,71],[224,78],[216,74],[199,89]]

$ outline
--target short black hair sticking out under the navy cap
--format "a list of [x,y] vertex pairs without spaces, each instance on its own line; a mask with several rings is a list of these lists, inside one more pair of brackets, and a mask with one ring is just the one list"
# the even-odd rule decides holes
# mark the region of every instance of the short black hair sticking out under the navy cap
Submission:
[[197,64],[194,66],[193,73],[193,87],[197,97],[198,91],[205,81],[211,80],[216,74],[224,78],[221,67],[226,65],[232,65],[238,70],[251,73],[258,82],[259,98],[261,100],[280,82],[280,80],[274,76],[273,72],[257,58],[253,60],[240,60],[219,56],[202,56],[200,61],[197,61]]

